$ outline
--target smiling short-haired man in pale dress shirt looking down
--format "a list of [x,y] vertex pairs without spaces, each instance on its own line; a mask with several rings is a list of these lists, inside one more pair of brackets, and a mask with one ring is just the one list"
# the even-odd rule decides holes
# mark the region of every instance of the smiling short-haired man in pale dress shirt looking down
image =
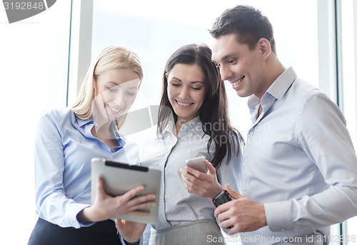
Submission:
[[331,224],[357,214],[357,158],[343,114],[285,68],[273,28],[250,6],[226,10],[211,28],[212,60],[250,96],[240,189],[215,216],[243,244],[328,244]]

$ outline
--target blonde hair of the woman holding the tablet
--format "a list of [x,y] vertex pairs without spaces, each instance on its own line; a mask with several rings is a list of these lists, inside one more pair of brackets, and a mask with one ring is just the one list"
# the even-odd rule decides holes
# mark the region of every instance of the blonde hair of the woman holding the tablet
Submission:
[[140,80],[143,79],[143,70],[139,56],[124,46],[109,46],[104,48],[96,60],[91,63],[84,81],[79,90],[74,106],[71,108],[74,114],[86,120],[92,116],[92,100],[94,100],[94,80],[98,75],[118,68],[129,68],[138,73]]

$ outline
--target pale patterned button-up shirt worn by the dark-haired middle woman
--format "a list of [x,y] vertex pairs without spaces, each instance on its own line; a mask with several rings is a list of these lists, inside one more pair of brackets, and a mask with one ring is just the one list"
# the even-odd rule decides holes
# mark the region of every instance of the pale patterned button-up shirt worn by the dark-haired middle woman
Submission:
[[[211,155],[208,155],[207,142],[210,136],[202,130],[202,123],[197,116],[182,125],[178,135],[174,134],[175,125],[171,120],[162,135],[156,137],[156,127],[152,127],[141,150],[141,165],[156,167],[161,174],[161,194],[159,199],[159,221],[152,227],[156,230],[188,224],[199,220],[215,220],[214,208],[206,197],[189,193],[181,179],[180,168],[184,169],[186,160],[193,157],[206,157],[211,161],[214,143],[211,144]],[[144,139],[144,138],[143,138]],[[238,165],[241,162],[241,148],[237,156],[236,149],[230,162],[223,159],[217,170],[218,182],[228,183],[233,189],[238,188]],[[178,238],[179,239],[179,238]]]

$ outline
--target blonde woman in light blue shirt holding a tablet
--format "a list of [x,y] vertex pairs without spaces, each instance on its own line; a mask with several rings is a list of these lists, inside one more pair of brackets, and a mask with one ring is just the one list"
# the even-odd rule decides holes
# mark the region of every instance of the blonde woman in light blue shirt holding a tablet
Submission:
[[[42,115],[35,149],[39,220],[29,244],[125,243],[126,231],[121,238],[110,218],[149,215],[138,210],[153,206],[154,194],[132,198],[143,186],[111,197],[98,179],[98,194],[91,205],[91,158],[125,160],[126,143],[118,127],[134,103],[142,78],[136,53],[110,46],[91,64],[75,105]],[[128,231],[130,238],[136,230]]]

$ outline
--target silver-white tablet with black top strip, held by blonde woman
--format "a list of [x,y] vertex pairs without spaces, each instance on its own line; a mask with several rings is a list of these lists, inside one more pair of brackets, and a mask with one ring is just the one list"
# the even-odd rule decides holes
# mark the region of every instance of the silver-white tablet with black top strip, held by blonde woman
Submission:
[[159,213],[159,194],[161,182],[161,170],[151,167],[142,167],[138,165],[127,165],[120,162],[111,162],[108,160],[93,158],[91,160],[91,201],[94,203],[96,197],[96,181],[101,177],[104,181],[104,189],[107,194],[117,196],[124,194],[129,189],[144,184],[145,189],[140,192],[143,194],[156,194],[156,205],[143,209],[150,212],[150,216],[141,215],[121,215],[113,217],[125,219],[146,224],[156,224]]

